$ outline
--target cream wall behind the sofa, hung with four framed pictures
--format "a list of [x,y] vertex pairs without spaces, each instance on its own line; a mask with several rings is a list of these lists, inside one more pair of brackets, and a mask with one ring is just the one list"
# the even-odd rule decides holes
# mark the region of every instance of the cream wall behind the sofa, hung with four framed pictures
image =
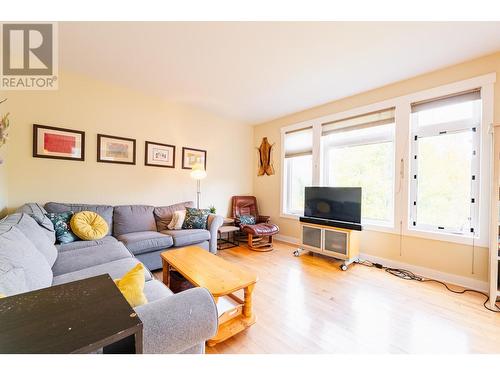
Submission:
[[[196,199],[196,183],[181,169],[183,146],[206,149],[202,206],[226,215],[232,195],[252,191],[252,127],[206,111],[63,73],[59,90],[4,92],[11,113],[6,165],[8,207],[25,202],[145,203]],[[85,161],[32,157],[33,123],[86,132]],[[97,133],[135,138],[137,164],[96,162]],[[144,141],[176,145],[176,168],[144,166]],[[2,172],[3,170],[3,172]],[[5,171],[7,173],[5,173]],[[5,206],[0,200],[0,208]]]

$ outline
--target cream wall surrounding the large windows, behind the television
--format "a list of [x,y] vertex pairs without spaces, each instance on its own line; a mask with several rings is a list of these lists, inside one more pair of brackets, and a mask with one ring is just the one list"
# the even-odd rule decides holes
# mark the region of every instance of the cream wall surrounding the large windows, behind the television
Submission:
[[[281,235],[292,238],[300,237],[298,221],[280,217],[281,127],[491,72],[497,73],[494,119],[495,122],[500,122],[500,53],[496,53],[256,125],[254,146],[260,144],[262,137],[268,137],[271,143],[274,142],[274,166],[276,168],[274,176],[257,177],[254,173],[254,193],[259,201],[259,210],[263,214],[272,216],[272,220],[280,226]],[[360,79],[362,79],[361,74]],[[254,171],[257,163],[258,159],[255,155]],[[363,231],[361,251],[372,256],[430,268],[459,277],[479,281],[488,280],[488,250],[486,248],[476,247],[474,262],[472,262],[473,250],[469,245],[410,236],[404,236],[400,243],[399,235]]]

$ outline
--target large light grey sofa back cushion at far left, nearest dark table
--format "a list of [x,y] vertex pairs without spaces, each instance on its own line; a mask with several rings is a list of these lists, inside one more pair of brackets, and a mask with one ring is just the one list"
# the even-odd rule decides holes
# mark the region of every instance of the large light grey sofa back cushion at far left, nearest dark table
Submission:
[[[8,218],[0,221],[0,278],[8,278],[9,291],[2,291],[0,284],[0,293],[17,294],[50,286],[52,270],[45,256],[20,229],[7,222]],[[22,272],[6,275],[16,269]]]

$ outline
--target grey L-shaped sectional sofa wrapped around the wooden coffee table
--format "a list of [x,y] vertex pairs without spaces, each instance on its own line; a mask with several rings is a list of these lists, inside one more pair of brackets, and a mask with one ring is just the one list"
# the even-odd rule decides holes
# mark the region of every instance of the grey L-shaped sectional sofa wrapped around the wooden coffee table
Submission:
[[[46,206],[53,211],[68,207],[75,211],[91,209],[88,205]],[[105,273],[113,279],[121,278],[140,262],[141,256],[156,266],[154,256],[159,258],[162,249],[175,246],[176,242],[177,246],[189,242],[206,244],[212,249],[210,237],[197,237],[199,232],[176,239],[154,231],[151,220],[142,223],[139,217],[145,220],[154,213],[149,206],[92,208],[112,224],[110,234],[117,238],[106,236],[98,241],[54,245],[52,223],[36,204],[24,205],[20,212],[0,220],[0,293],[10,296]],[[132,220],[127,215],[136,216]],[[217,217],[212,217],[212,225],[217,221]],[[145,281],[148,303],[135,308],[144,325],[144,352],[203,353],[205,341],[217,332],[217,308],[210,293],[193,288],[174,295],[149,271],[145,272]]]

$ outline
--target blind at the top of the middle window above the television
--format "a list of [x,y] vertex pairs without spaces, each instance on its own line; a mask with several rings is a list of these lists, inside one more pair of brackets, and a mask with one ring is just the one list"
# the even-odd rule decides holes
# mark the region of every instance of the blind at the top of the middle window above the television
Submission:
[[372,126],[394,123],[395,108],[370,112],[360,116],[348,117],[342,120],[326,122],[322,125],[321,135],[329,135],[345,131],[359,130]]

